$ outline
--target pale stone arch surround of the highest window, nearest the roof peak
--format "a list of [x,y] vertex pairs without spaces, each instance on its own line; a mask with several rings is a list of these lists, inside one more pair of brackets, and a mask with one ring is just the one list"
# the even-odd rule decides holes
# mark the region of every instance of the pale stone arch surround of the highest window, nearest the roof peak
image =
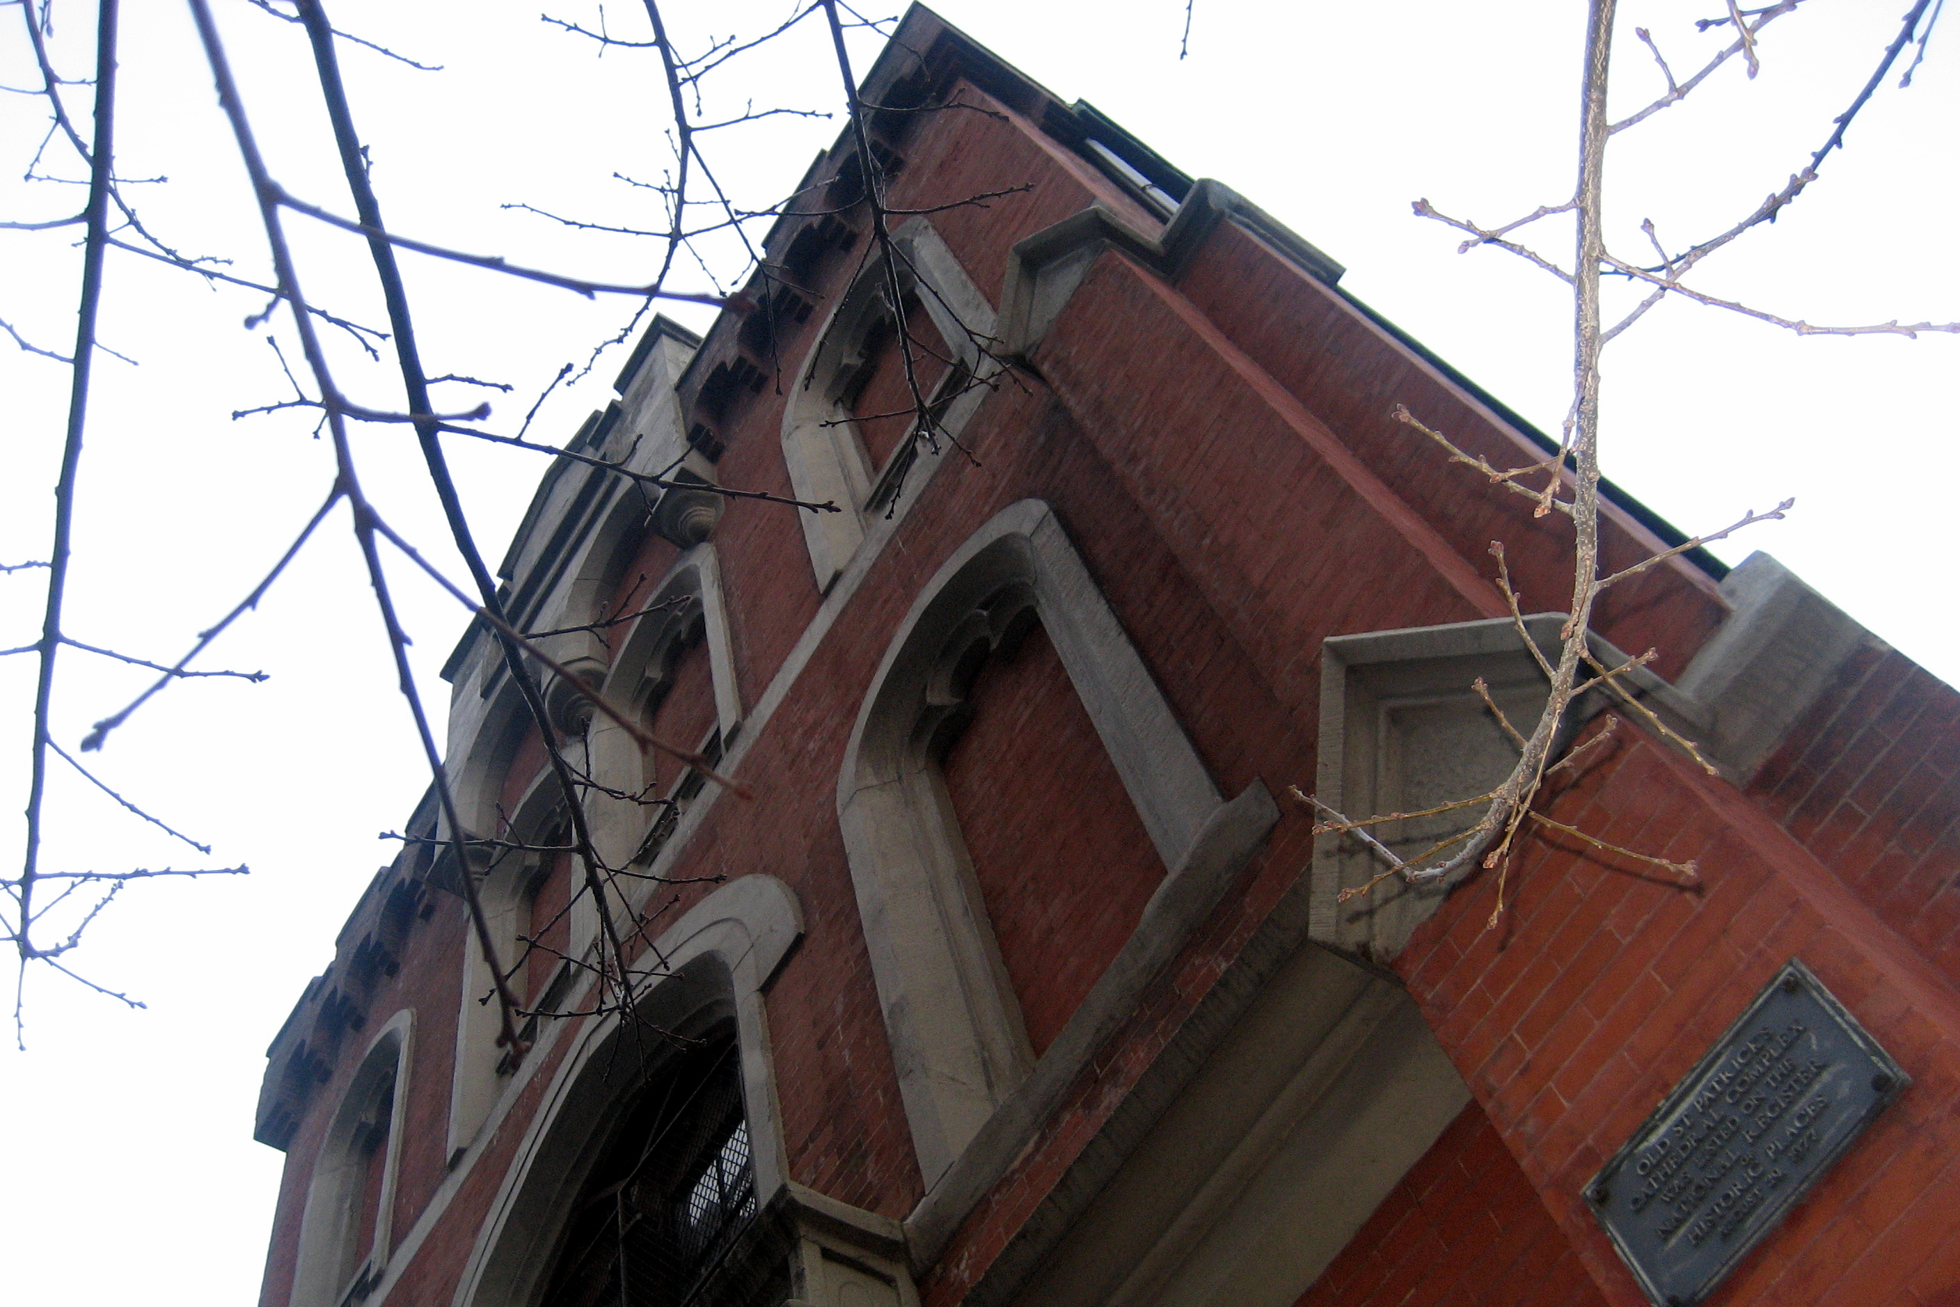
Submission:
[[[892,249],[900,261],[900,280],[919,290],[919,304],[960,364],[951,376],[958,376],[962,368],[974,376],[990,372],[994,364],[974,337],[992,337],[994,306],[939,231],[925,218],[913,218],[892,233]],[[782,457],[796,498],[831,502],[843,509],[798,513],[817,590],[831,588],[864,541],[866,506],[878,490],[849,413],[837,402],[837,386],[853,366],[866,331],[884,312],[884,257],[866,259],[817,333],[782,413]],[[949,413],[947,425],[955,423],[956,417]]]

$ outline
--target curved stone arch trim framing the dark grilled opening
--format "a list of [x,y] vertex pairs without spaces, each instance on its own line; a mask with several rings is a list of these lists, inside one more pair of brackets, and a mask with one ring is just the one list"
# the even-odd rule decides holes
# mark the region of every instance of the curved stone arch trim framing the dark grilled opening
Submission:
[[[733,1017],[757,1197],[790,1186],[762,992],[804,935],[796,894],[766,874],[731,880],[668,927],[635,962],[662,974],[639,1005],[659,1029],[694,1035]],[[592,1021],[553,1072],[476,1236],[453,1307],[529,1307],[557,1256],[566,1203],[604,1142],[604,1125],[641,1084],[619,1074],[637,1027]],[[615,1056],[617,1054],[617,1056]]]

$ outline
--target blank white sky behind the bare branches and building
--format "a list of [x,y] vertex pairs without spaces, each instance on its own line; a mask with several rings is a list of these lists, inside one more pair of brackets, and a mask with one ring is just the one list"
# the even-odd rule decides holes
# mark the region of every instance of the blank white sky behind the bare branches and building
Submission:
[[[776,4],[670,0],[676,39],[753,33]],[[598,22],[590,0],[553,14]],[[1891,39],[1903,4],[1811,0],[1762,39],[1764,73],[1740,61],[1646,127],[1617,139],[1613,239],[1642,251],[1654,218],[1670,247],[1746,214],[1801,167]],[[570,233],[500,212],[539,208],[610,223],[659,225],[651,194],[612,174],[659,174],[664,88],[651,53],[596,57],[537,22],[539,6],[333,4],[341,27],[423,59],[416,73],[341,51],[374,182],[398,231],[519,263],[645,278],[651,243]],[[1200,0],[1192,55],[1178,61],[1176,0],[947,0],[941,10],[1064,98],[1082,96],[1196,176],[1217,176],[1348,266],[1347,286],[1503,402],[1556,429],[1566,408],[1570,302],[1560,284],[1499,251],[1456,257],[1458,233],[1409,216],[1429,196],[1486,223],[1570,192],[1576,141],[1576,0],[1466,6],[1241,4]],[[1691,20],[1719,4],[1627,0],[1615,110],[1660,92],[1644,24],[1678,74],[1725,35]],[[298,194],[349,212],[331,137],[296,27],[221,0],[245,96],[274,172]],[[86,69],[92,16],[57,6],[71,73]],[[639,6],[608,8],[613,31],[643,37]],[[73,25],[73,29],[71,29]],[[1952,25],[1950,22],[1944,25]],[[22,86],[18,10],[0,10],[0,82]],[[1940,31],[1911,90],[1897,74],[1831,159],[1823,180],[1774,227],[1711,259],[1695,282],[1789,317],[1903,321],[1960,317],[1960,33]],[[858,71],[874,41],[857,45]],[[731,65],[719,110],[837,104],[827,39],[811,22],[747,73]],[[84,90],[76,104],[86,106]],[[169,174],[129,196],[167,239],[237,259],[265,278],[263,239],[180,6],[125,6],[120,149],[125,176]],[[710,116],[719,112],[708,106]],[[0,161],[16,176],[39,133],[37,106],[0,96]],[[729,133],[715,155],[737,194],[760,206],[794,186],[841,120],[776,120]],[[73,165],[61,172],[76,176]],[[76,186],[0,184],[0,218],[76,206]],[[384,323],[365,247],[292,219],[310,294]],[[1570,227],[1544,223],[1543,247],[1570,261]],[[510,431],[531,396],[623,321],[621,300],[586,304],[510,278],[404,255],[433,374],[512,382],[492,396]],[[65,237],[4,235],[0,317],[67,351],[78,261]],[[702,286],[682,272],[676,284]],[[227,609],[325,496],[331,459],[294,413],[233,423],[231,410],[290,392],[239,321],[249,292],[112,255],[104,341],[139,361],[98,363],[80,476],[69,631],[172,660]],[[694,325],[700,312],[668,310]],[[276,321],[288,343],[292,333]],[[331,339],[331,333],[329,333]],[[357,398],[398,408],[384,368],[339,351]],[[1715,310],[1668,304],[1607,353],[1605,466],[1684,529],[1713,529],[1744,508],[1797,496],[1788,523],[1717,547],[1740,560],[1766,549],[1935,672],[1960,676],[1950,605],[1950,486],[1956,457],[1952,337],[1797,339]],[[608,400],[613,351],[561,392],[533,433],[563,441]],[[482,392],[443,388],[455,408]],[[0,343],[0,560],[45,557],[49,488],[61,445],[67,370]],[[1413,439],[1413,437],[1411,437]],[[545,462],[449,443],[492,564]],[[404,429],[357,435],[370,494],[451,574],[463,576],[414,443]],[[1484,492],[1470,476],[1466,494]],[[1301,547],[1311,547],[1303,541]],[[463,611],[406,566],[394,568],[417,670],[435,678]],[[0,578],[0,647],[39,631],[41,576]],[[1527,596],[1556,605],[1558,596]],[[257,1297],[280,1154],[251,1140],[265,1046],[333,937],[425,776],[380,641],[345,513],[308,549],[263,609],[206,666],[265,668],[263,686],[206,680],[172,688],[116,735],[92,766],[174,827],[214,845],[204,858],[88,792],[57,762],[49,870],[223,866],[223,882],[133,886],[94,927],[74,964],[127,990],[127,1011],[45,972],[29,974],[27,1052],[0,1054],[0,1231],[8,1301],[241,1303]],[[74,747],[143,676],[69,653],[55,733]],[[0,660],[8,741],[0,788],[25,792],[31,658]],[[768,801],[762,796],[762,801]],[[6,839],[18,848],[16,805]],[[12,854],[10,854],[12,856]]]

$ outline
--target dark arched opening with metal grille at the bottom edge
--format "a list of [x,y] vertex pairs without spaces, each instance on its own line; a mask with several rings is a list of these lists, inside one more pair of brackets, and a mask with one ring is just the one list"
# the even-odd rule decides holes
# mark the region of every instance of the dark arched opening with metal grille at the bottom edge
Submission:
[[[651,1037],[649,1039],[657,1039]],[[627,1105],[566,1223],[543,1307],[749,1307],[786,1268],[743,1266],[757,1215],[733,1029],[664,1060]]]

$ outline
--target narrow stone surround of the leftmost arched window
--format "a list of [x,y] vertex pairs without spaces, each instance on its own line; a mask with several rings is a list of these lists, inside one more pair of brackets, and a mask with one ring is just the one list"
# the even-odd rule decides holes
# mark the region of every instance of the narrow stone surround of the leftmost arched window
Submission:
[[[416,1013],[402,1009],[388,1019],[361,1054],[359,1070],[347,1084],[327,1133],[319,1140],[312,1184],[306,1189],[306,1211],[300,1217],[300,1252],[292,1272],[292,1307],[341,1307],[363,1283],[378,1280],[392,1252],[390,1215],[394,1211],[396,1176],[402,1158],[402,1123],[408,1099],[410,1054],[414,1052]],[[349,1248],[353,1223],[361,1219],[365,1160],[355,1138],[361,1119],[374,1109],[382,1086],[388,1086],[388,1142],[382,1158],[380,1195],[374,1207],[374,1233],[367,1248]],[[353,1262],[351,1274],[343,1266]],[[359,1301],[359,1297],[355,1297]]]

